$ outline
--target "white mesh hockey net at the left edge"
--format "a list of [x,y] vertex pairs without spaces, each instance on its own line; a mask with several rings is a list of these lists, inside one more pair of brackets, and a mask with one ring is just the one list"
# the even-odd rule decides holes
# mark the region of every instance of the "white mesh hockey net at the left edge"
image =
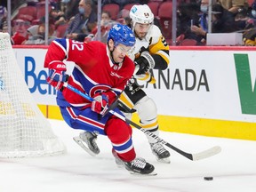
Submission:
[[54,156],[65,149],[28,90],[9,34],[0,33],[0,157]]

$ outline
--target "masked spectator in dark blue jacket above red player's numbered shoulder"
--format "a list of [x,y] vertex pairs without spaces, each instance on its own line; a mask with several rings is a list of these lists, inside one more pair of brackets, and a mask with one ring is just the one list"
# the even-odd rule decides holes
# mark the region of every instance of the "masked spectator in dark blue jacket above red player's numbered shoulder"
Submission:
[[79,13],[72,20],[67,29],[67,38],[77,39],[78,34],[89,35],[97,25],[97,13],[92,0],[79,2]]

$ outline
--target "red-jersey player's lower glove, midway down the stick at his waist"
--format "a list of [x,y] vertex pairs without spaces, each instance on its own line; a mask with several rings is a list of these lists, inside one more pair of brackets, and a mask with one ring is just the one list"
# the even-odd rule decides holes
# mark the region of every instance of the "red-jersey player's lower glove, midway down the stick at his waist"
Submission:
[[96,94],[92,101],[92,111],[104,115],[108,110],[108,96],[105,94]]

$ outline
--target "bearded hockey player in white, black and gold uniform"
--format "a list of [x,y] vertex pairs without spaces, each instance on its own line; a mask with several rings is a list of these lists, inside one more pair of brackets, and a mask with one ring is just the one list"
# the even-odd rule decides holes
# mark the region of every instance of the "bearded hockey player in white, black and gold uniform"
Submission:
[[[127,118],[131,117],[131,113],[136,110],[140,117],[141,127],[158,135],[156,103],[136,84],[136,79],[154,84],[156,80],[151,76],[150,69],[164,70],[168,67],[169,46],[160,29],[154,25],[154,14],[147,4],[133,5],[130,18],[131,28],[136,36],[136,44],[129,52],[129,57],[134,60],[136,69],[133,79],[118,100],[119,106]],[[169,151],[152,137],[148,135],[147,137],[156,159],[169,164]]]

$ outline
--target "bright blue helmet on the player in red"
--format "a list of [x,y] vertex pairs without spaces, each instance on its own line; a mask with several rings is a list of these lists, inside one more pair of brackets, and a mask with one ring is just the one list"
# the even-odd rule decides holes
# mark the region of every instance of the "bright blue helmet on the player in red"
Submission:
[[132,29],[119,23],[110,28],[108,32],[108,41],[110,39],[114,41],[115,46],[118,44],[133,46],[135,44],[135,36]]

